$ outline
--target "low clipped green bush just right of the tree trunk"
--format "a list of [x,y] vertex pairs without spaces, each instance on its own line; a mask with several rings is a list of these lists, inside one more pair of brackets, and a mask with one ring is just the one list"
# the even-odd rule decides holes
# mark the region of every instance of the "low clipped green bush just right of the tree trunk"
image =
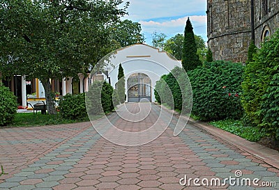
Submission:
[[81,120],[86,117],[85,94],[63,96],[63,99],[59,101],[59,110],[62,118]]

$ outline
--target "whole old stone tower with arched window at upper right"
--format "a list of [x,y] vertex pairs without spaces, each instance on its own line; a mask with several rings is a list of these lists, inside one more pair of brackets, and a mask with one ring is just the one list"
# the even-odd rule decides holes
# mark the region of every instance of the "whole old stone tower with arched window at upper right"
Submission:
[[279,27],[278,0],[208,0],[206,13],[208,45],[214,60],[244,63],[252,37],[260,47],[262,40]]

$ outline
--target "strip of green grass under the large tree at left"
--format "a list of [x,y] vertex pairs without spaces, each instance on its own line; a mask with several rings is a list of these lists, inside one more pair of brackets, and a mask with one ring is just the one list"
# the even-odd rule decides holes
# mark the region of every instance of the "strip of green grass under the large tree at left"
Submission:
[[57,115],[43,115],[40,113],[16,113],[13,122],[8,127],[35,127],[42,125],[59,125],[73,122],[85,122],[89,121],[88,117],[82,118],[82,120],[68,120],[64,119],[58,113]]

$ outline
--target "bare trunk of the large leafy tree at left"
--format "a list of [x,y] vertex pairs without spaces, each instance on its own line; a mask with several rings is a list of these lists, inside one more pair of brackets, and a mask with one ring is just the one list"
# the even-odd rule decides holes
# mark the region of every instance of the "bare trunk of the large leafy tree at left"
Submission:
[[43,79],[41,80],[43,87],[45,88],[45,100],[47,101],[47,113],[49,114],[56,114],[54,101],[52,97],[52,86],[50,84],[50,79]]

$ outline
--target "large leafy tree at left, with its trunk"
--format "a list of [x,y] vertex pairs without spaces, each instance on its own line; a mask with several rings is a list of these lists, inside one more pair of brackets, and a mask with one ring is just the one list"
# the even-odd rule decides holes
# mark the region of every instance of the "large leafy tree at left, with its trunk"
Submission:
[[128,6],[118,8],[122,0],[1,2],[0,71],[13,68],[14,74],[40,79],[51,114],[50,78],[75,77],[111,52],[112,27]]

